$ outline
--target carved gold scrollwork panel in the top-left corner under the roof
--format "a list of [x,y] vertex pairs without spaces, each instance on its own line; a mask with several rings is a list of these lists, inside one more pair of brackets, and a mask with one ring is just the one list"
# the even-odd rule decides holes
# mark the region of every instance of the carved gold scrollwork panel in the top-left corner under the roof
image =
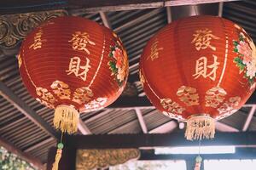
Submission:
[[45,20],[67,15],[66,10],[0,16],[0,47],[14,48],[33,28]]

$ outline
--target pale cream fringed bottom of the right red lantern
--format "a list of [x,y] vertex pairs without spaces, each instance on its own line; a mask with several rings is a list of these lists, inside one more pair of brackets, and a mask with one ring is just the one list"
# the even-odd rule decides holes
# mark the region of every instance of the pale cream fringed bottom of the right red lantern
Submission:
[[185,138],[213,139],[215,134],[215,120],[211,116],[191,116],[187,121]]

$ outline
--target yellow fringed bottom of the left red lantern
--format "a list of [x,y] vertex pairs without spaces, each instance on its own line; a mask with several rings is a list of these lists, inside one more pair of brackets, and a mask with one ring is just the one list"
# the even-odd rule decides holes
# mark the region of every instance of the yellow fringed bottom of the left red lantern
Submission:
[[54,127],[62,133],[76,133],[79,124],[79,111],[73,106],[58,105],[55,109]]

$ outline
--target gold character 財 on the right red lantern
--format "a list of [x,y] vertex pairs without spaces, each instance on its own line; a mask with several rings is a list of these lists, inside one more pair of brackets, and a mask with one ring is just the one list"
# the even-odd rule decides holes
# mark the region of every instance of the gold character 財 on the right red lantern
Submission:
[[[214,62],[212,65],[207,65],[207,57],[201,57],[200,59],[196,60],[196,65],[195,65],[195,74],[193,77],[197,79],[198,77],[204,77],[207,78],[209,77],[211,80],[215,81],[216,79],[216,71],[218,69],[219,62],[217,61],[217,56],[212,55]],[[208,73],[208,70],[209,71]]]

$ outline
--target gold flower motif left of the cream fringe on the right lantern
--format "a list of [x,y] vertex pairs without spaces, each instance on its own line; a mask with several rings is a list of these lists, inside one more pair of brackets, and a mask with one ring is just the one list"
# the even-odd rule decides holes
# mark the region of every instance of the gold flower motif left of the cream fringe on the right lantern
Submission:
[[183,111],[185,111],[185,108],[178,105],[175,101],[172,101],[172,99],[160,99],[160,104],[164,109],[171,113],[182,114]]

